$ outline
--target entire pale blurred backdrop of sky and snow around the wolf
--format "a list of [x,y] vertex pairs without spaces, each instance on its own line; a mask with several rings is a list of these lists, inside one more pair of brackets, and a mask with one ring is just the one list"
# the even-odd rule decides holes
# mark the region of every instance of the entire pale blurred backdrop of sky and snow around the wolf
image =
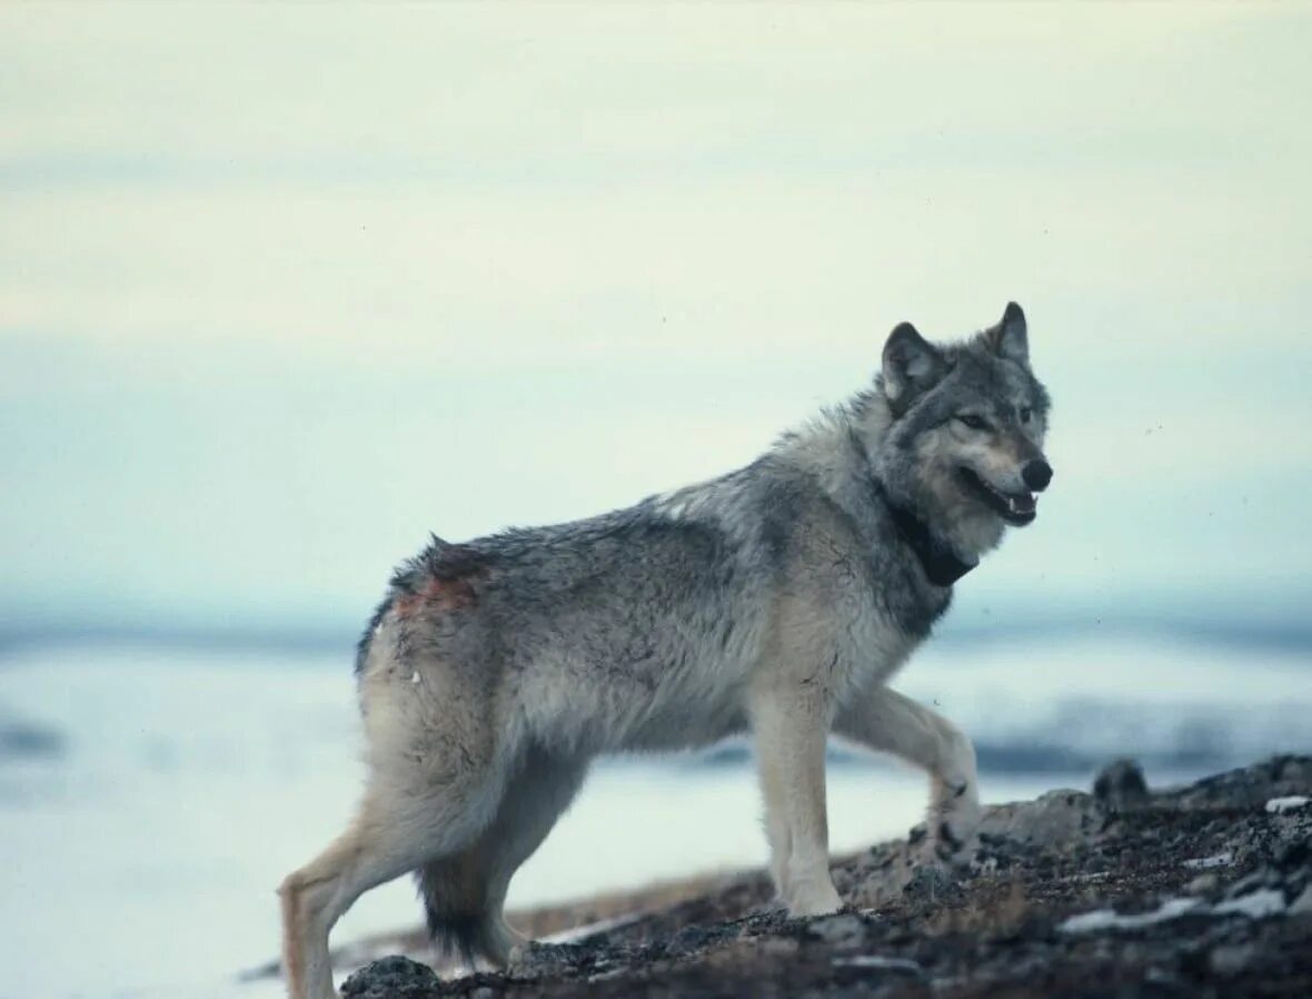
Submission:
[[[253,996],[392,563],[749,461],[899,320],[1009,298],[1056,479],[900,687],[993,799],[1312,750],[1309,43],[1260,4],[0,8],[10,987]],[[838,847],[922,803],[832,784]],[[604,765],[513,901],[758,862],[757,811],[737,750]]]

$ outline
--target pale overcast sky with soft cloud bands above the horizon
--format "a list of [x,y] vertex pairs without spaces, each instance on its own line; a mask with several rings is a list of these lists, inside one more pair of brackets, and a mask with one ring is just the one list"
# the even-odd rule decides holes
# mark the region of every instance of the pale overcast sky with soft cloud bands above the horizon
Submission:
[[1027,310],[963,613],[1312,595],[1312,11],[0,8],[0,624],[353,626]]

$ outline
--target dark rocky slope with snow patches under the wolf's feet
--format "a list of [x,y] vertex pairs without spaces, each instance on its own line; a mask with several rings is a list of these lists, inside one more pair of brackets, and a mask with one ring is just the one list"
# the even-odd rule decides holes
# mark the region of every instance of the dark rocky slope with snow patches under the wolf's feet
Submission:
[[[1149,792],[988,810],[974,866],[920,862],[922,830],[834,864],[850,908],[790,920],[760,873],[573,910],[607,925],[510,974],[369,964],[349,999],[437,996],[1312,996],[1312,757]],[[673,899],[673,901],[672,901]],[[539,914],[543,932],[568,914]],[[516,920],[512,920],[516,922]],[[534,920],[530,920],[534,922]],[[556,925],[552,925],[555,923]]]

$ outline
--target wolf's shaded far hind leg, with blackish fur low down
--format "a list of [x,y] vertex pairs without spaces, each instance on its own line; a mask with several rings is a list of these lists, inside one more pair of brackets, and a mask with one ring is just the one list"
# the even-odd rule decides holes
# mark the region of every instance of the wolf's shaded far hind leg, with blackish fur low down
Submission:
[[510,878],[569,807],[586,768],[584,759],[530,750],[512,772],[496,818],[474,844],[416,872],[438,946],[459,952],[466,961],[482,956],[497,967],[514,960],[526,941],[505,922]]

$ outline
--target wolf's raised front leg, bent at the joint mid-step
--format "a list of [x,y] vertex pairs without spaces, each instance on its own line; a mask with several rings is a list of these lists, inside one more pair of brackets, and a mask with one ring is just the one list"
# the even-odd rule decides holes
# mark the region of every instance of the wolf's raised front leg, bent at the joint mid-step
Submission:
[[980,822],[979,778],[975,747],[960,729],[909,697],[879,687],[841,710],[834,731],[926,771],[930,848],[939,860],[970,861]]

